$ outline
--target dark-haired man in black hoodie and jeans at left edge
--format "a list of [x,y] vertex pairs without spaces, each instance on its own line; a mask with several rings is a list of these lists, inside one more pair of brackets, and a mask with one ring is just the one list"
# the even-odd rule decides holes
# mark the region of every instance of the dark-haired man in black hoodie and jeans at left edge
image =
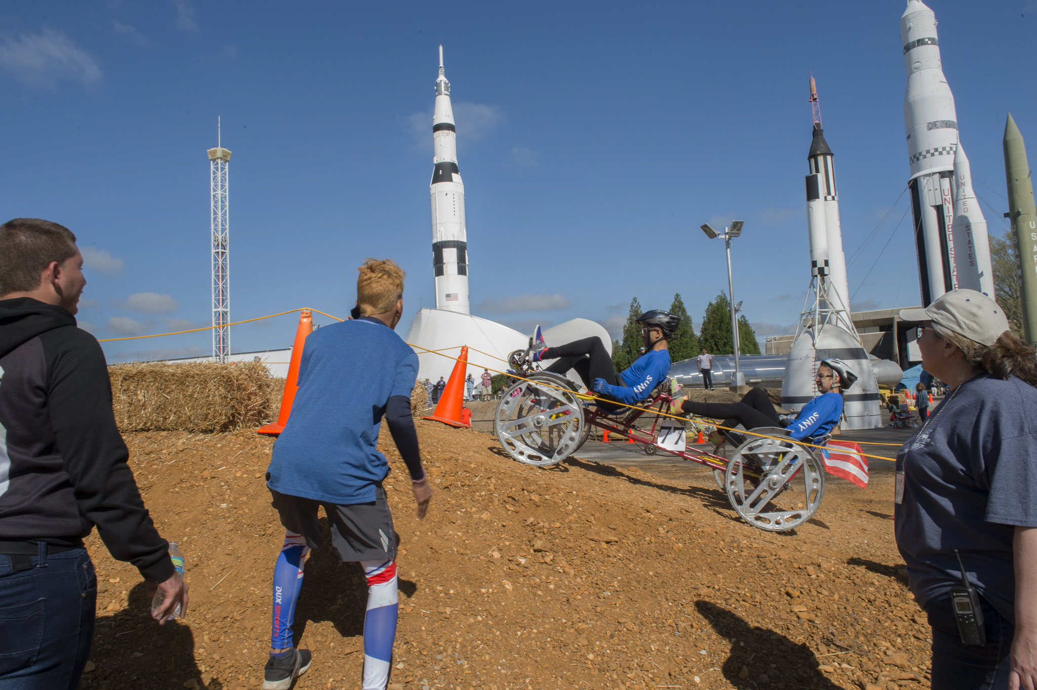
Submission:
[[97,599],[83,548],[94,525],[149,594],[164,591],[160,623],[177,604],[187,611],[187,584],[127,464],[104,352],[76,327],[82,265],[67,228],[0,226],[0,687],[79,684]]

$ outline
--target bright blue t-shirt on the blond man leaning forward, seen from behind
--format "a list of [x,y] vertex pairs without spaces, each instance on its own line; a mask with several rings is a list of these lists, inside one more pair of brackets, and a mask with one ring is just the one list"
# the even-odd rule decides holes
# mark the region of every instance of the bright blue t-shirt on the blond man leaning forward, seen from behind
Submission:
[[274,443],[267,486],[331,504],[374,500],[389,473],[379,429],[393,396],[411,397],[418,355],[382,321],[314,330],[303,348],[291,415]]

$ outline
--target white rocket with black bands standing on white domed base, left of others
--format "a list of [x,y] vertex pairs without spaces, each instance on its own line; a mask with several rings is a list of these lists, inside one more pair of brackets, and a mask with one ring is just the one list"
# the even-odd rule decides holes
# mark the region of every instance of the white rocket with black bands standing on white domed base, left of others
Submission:
[[469,313],[468,235],[465,232],[465,183],[457,172],[457,133],[450,106],[450,82],[443,70],[436,80],[432,115],[432,265],[436,272],[436,308]]

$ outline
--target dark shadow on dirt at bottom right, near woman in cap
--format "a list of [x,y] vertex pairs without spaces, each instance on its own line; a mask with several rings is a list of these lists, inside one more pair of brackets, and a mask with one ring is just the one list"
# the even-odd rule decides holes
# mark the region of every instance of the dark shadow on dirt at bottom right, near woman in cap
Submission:
[[796,644],[774,630],[751,626],[736,613],[707,601],[695,602],[695,608],[731,642],[721,672],[734,687],[778,687],[777,683],[781,683],[786,688],[846,690],[818,670],[817,657],[806,644]]

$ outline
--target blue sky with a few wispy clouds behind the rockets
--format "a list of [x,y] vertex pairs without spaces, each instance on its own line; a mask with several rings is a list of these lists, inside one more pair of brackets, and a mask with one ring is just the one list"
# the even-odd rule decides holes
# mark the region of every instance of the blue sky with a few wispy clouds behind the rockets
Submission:
[[[1009,110],[1037,155],[1037,2],[930,6],[975,188],[1001,234]],[[723,245],[698,226],[737,218],[735,299],[761,336],[783,333],[810,280],[811,71],[836,154],[852,301],[919,300],[900,196],[903,7],[7,2],[0,198],[8,218],[54,220],[79,236],[89,279],[80,318],[99,338],[205,325],[205,149],[220,115],[233,151],[232,319],[302,306],[344,315],[356,266],[376,256],[408,271],[402,330],[433,304],[442,42],[474,313],[523,329],[578,316],[615,329],[630,297],[667,308],[679,292],[698,328],[727,287]],[[234,327],[231,343],[284,347],[293,332],[295,317],[280,317]],[[205,354],[211,339],[105,349],[113,361]]]

